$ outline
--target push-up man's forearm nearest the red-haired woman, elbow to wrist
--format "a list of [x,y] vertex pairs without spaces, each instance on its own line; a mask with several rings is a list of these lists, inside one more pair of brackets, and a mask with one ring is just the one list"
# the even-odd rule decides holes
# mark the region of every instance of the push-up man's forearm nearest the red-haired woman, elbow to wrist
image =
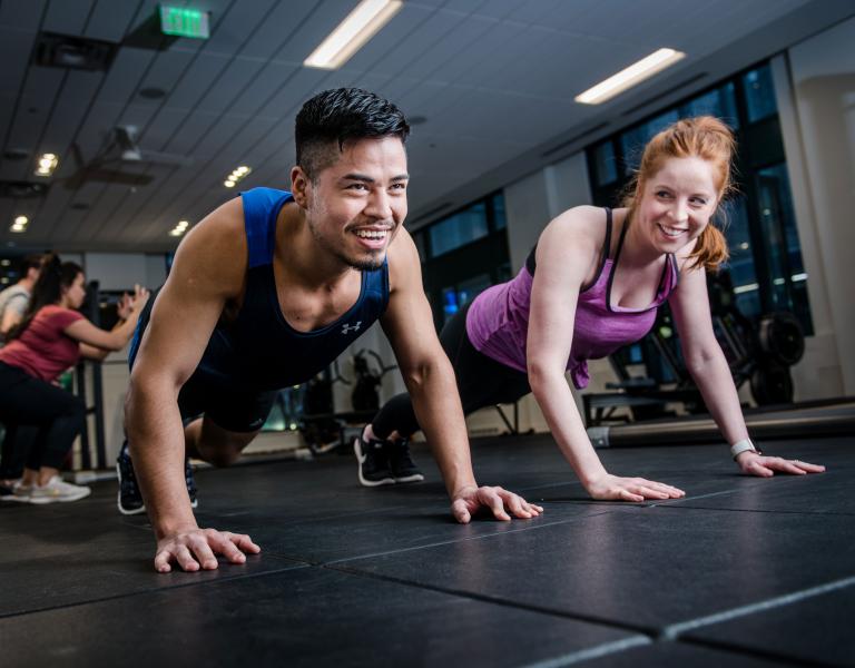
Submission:
[[474,487],[466,423],[451,364],[425,367],[417,382],[409,383],[419,424],[453,499],[460,490]]

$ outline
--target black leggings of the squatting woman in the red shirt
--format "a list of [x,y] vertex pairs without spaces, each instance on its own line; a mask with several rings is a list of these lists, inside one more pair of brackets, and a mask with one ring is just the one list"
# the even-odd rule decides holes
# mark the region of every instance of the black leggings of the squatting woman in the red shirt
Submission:
[[[22,426],[38,430],[27,452],[28,469],[60,469],[85,419],[86,405],[80,397],[0,362],[0,422],[7,429],[4,441],[14,439]],[[3,451],[17,451],[17,445],[10,449],[4,442]]]

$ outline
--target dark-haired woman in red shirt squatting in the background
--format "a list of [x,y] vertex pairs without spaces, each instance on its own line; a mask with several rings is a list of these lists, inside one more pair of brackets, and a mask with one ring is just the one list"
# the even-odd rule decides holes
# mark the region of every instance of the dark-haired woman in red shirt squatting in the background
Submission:
[[61,263],[57,255],[47,256],[27,312],[0,350],[0,422],[7,425],[6,438],[13,438],[19,425],[38,429],[27,452],[23,478],[4,500],[52,503],[77,501],[90,492],[59,477],[82,428],[86,406],[59,387],[57,379],[81,355],[102,360],[110,351],[125,347],[148,291],[137,287],[134,297],[122,301],[122,320],[111,332],[96,327],[78,313],[85,297],[82,268]]

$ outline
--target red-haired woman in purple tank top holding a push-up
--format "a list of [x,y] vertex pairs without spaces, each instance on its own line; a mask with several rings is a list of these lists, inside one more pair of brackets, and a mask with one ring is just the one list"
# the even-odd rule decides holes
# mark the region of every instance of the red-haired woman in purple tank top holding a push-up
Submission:
[[[440,336],[454,365],[463,412],[532,392],[591,497],[682,497],[682,490],[668,484],[609,473],[564,379],[569,372],[573,384],[584,387],[586,361],[640,340],[667,301],[686,365],[739,468],[760,477],[823,471],[765,456],[754,446],[712,332],[706,272],[728,255],[712,217],[730,188],[733,151],[733,135],[718,119],[680,120],[645,147],[625,207],[580,206],[552,220],[517,277],[481,293]],[[391,453],[394,461],[395,440],[417,428],[407,395],[381,409],[354,444],[363,484],[396,481],[384,475],[381,458]]]

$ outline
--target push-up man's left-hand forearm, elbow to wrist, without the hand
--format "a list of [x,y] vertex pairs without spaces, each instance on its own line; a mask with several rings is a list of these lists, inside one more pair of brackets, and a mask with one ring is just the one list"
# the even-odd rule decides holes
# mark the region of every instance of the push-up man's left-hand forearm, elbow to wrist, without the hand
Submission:
[[195,529],[184,480],[184,428],[175,393],[131,386],[127,430],[137,482],[156,537]]

